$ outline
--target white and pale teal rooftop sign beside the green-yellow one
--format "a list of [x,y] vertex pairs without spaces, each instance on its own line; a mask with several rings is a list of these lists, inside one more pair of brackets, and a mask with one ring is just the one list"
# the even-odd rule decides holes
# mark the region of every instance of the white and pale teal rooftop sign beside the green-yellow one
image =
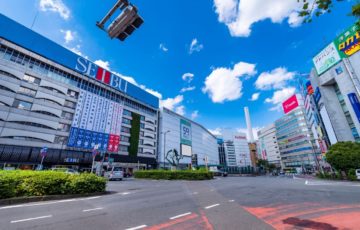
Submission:
[[330,43],[318,55],[313,58],[316,72],[318,75],[324,73],[341,60],[335,44]]

